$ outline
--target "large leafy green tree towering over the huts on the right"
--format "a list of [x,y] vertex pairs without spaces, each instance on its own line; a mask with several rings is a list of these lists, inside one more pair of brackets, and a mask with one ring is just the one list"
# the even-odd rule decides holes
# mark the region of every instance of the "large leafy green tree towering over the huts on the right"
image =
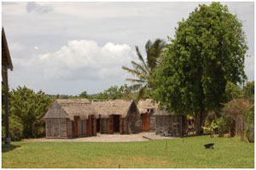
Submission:
[[178,23],[154,73],[154,99],[166,109],[189,113],[202,133],[207,113],[225,102],[226,83],[246,79],[247,42],[241,21],[221,3],[200,5]]

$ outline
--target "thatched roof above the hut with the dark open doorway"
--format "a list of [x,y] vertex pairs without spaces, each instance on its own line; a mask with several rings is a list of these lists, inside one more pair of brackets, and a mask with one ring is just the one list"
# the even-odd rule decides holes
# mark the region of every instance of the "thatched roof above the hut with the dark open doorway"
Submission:
[[107,118],[110,115],[120,115],[125,117],[132,103],[135,105],[132,100],[126,101],[123,99],[114,99],[108,101],[92,102],[91,104],[96,111],[96,117],[101,115],[102,118]]

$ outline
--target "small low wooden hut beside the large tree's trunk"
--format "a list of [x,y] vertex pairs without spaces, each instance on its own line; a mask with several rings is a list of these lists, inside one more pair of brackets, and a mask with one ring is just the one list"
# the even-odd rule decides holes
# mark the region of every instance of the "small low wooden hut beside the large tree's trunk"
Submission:
[[186,116],[160,110],[156,111],[154,116],[156,134],[182,137],[186,133]]

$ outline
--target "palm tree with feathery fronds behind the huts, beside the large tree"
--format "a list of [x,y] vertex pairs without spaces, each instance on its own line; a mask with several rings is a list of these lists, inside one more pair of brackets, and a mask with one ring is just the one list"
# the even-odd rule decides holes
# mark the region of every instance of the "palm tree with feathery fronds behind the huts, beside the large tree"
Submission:
[[136,46],[137,57],[140,63],[131,61],[132,69],[122,66],[122,69],[130,72],[136,78],[126,78],[128,82],[133,82],[131,90],[138,91],[137,100],[142,99],[148,89],[148,78],[153,74],[154,68],[160,63],[160,54],[162,54],[166,42],[161,39],[156,39],[154,42],[148,40],[145,45],[146,62],[139,48]]

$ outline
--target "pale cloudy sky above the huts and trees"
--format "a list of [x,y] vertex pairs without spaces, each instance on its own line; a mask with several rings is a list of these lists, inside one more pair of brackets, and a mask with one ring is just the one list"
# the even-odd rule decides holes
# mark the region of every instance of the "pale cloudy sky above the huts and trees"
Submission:
[[[202,4],[202,3],[201,3]],[[210,3],[207,3],[210,4]],[[242,21],[254,80],[254,3],[223,3]],[[10,88],[46,94],[96,94],[131,77],[121,69],[137,61],[148,39],[173,37],[177,22],[199,3],[2,3],[2,25],[14,71]],[[144,54],[144,53],[143,53]]]

